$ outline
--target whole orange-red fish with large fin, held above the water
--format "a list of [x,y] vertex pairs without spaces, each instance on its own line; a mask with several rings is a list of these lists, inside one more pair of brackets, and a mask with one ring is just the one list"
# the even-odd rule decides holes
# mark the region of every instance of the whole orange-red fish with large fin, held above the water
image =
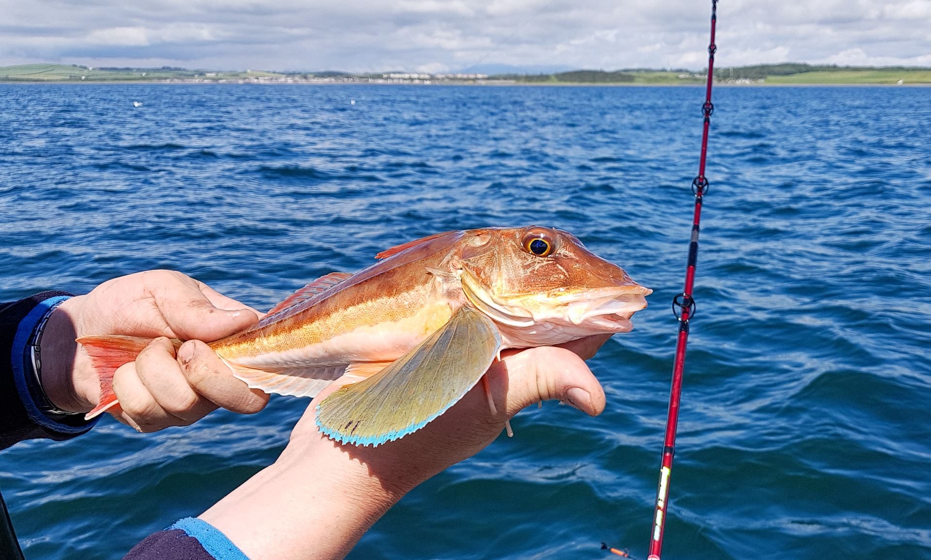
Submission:
[[[378,446],[439,417],[505,349],[631,330],[652,292],[572,233],[544,226],[436,233],[376,259],[317,278],[209,347],[265,393],[314,397],[338,381],[317,405],[320,431]],[[77,339],[101,379],[88,419],[118,403],[116,367],[150,340]]]

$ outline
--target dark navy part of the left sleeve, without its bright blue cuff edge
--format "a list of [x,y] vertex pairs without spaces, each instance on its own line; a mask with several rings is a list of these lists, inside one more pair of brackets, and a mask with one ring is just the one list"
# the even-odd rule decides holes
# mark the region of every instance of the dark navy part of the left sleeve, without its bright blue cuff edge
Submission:
[[54,429],[55,421],[35,421],[26,412],[13,377],[14,360],[19,361],[18,367],[23,360],[22,355],[12,355],[13,340],[20,329],[20,323],[43,301],[56,296],[70,295],[67,292],[46,291],[23,300],[0,303],[0,449],[24,439],[69,439],[87,432],[94,425],[94,422],[80,419],[62,420],[67,422],[67,425],[60,424],[60,431]]

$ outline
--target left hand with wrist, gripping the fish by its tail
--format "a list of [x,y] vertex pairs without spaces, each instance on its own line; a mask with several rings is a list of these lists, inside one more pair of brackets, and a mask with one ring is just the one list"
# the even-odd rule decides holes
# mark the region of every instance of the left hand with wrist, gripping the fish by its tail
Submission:
[[[88,353],[74,342],[88,335],[155,338],[119,367],[111,408],[141,432],[201,419],[217,407],[261,410],[268,395],[233,377],[201,340],[218,340],[250,326],[261,313],[185,274],[148,271],[121,276],[52,313],[41,341],[42,381],[56,407],[87,412],[100,401],[101,383]],[[169,338],[188,340],[175,353]]]

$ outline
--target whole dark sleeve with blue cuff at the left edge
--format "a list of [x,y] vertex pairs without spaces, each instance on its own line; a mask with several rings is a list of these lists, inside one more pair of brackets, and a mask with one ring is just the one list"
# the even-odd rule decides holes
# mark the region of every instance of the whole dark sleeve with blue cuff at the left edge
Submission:
[[27,344],[50,306],[71,294],[47,291],[23,300],[0,303],[0,449],[24,439],[61,441],[85,433],[96,423],[81,417],[55,420],[44,415],[30,394],[33,376]]

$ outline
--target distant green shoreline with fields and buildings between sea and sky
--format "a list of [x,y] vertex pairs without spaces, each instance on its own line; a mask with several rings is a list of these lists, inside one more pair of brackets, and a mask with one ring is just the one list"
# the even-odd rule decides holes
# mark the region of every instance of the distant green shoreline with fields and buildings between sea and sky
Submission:
[[[425,74],[418,74],[424,76]],[[514,83],[539,85],[688,85],[704,83],[704,72],[629,69],[614,72],[574,70],[552,74],[496,74],[479,79],[445,75],[409,80],[385,79],[381,73],[277,73],[266,71],[108,68],[78,64],[18,64],[0,67],[0,82],[389,82],[389,83]],[[931,68],[857,67],[800,63],[716,68],[715,81],[736,85],[857,85],[931,84]]]

